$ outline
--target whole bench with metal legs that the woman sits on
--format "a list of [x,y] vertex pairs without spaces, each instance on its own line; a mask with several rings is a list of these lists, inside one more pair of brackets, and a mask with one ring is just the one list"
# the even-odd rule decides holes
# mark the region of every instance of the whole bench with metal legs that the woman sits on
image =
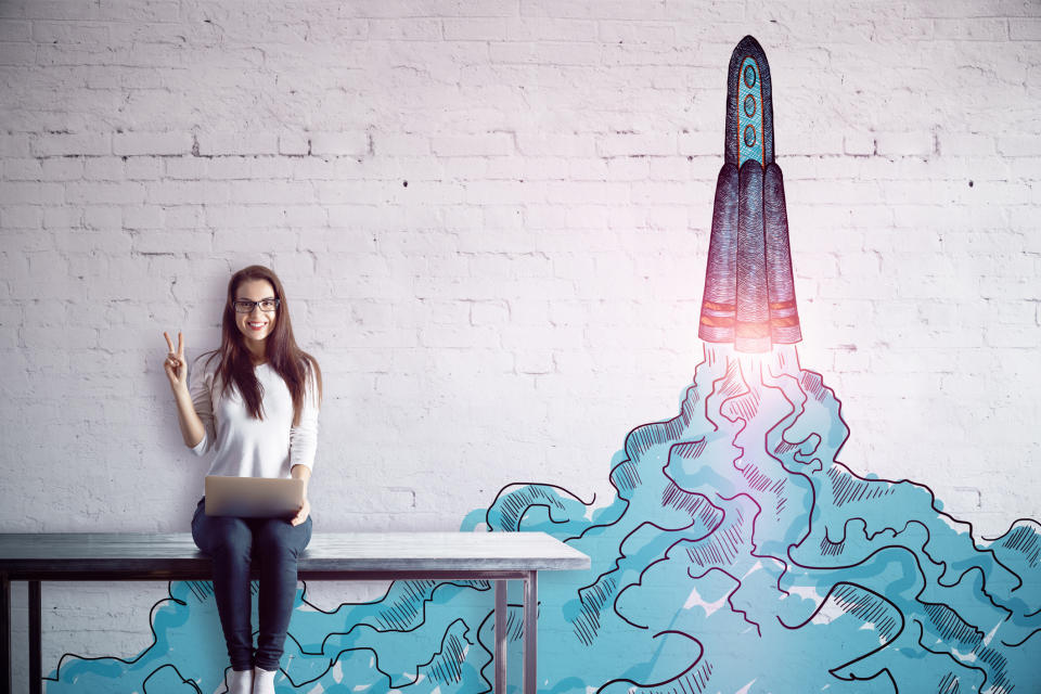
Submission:
[[[318,532],[304,580],[494,581],[497,694],[506,691],[506,581],[524,581],[524,694],[536,693],[538,573],[588,569],[589,556],[544,532]],[[0,534],[0,694],[10,694],[11,581],[28,582],[29,691],[42,692],[41,581],[209,580],[190,532]]]

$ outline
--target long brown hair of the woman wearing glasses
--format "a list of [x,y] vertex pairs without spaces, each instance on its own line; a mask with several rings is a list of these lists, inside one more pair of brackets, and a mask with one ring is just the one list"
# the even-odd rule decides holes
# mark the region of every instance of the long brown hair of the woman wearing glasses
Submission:
[[[282,290],[282,282],[278,275],[260,265],[252,265],[239,270],[228,282],[228,298],[224,300],[224,316],[220,331],[220,348],[208,354],[206,364],[215,357],[220,357],[217,375],[220,376],[221,395],[234,384],[246,404],[249,416],[264,419],[264,386],[257,381],[254,372],[253,359],[244,343],[244,337],[235,324],[235,292],[239,285],[247,280],[266,280],[274,287],[274,297],[279,306],[274,309],[274,330],[268,335],[267,358],[293,396],[293,426],[300,424],[300,411],[304,409],[304,398],[307,394],[307,383],[313,376],[318,393],[313,394],[316,402],[322,399],[322,372],[318,361],[309,354],[296,346],[293,337],[293,324],[290,321],[290,306]],[[205,356],[205,355],[204,355]]]

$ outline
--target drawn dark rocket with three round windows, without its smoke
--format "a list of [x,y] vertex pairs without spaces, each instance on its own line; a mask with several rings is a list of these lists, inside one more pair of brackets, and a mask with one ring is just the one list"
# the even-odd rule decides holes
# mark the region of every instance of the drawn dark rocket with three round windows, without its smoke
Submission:
[[802,339],[792,279],[784,180],[773,160],[770,66],[746,36],[730,56],[724,163],[716,182],[712,233],[697,335],[737,351],[769,351]]

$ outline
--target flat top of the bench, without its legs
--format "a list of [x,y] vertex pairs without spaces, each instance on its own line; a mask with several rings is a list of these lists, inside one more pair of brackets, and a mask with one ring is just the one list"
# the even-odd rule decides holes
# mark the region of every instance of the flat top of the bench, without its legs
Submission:
[[[301,577],[349,571],[587,569],[589,556],[545,532],[317,532],[298,560]],[[209,558],[190,532],[0,534],[10,578],[205,577]]]

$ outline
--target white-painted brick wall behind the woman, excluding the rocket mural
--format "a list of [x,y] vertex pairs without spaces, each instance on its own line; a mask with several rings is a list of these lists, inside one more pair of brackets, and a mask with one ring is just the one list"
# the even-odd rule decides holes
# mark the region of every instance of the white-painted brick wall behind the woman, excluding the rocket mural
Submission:
[[[162,332],[214,346],[250,262],[325,373],[319,528],[454,529],[515,480],[607,498],[699,357],[745,34],[843,460],[985,534],[1041,516],[1041,5],[284,5],[0,2],[0,530],[188,530]],[[164,591],[48,584],[44,667],[137,653]]]

